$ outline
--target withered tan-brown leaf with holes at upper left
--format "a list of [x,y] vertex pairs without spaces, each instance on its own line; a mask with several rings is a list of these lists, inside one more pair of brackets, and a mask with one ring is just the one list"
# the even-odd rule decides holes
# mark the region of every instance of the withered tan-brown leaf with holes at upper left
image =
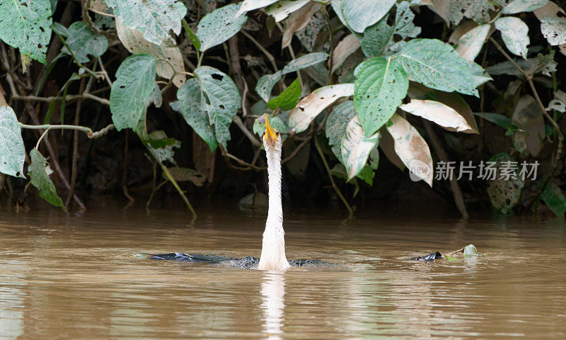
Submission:
[[127,28],[120,18],[116,18],[116,33],[129,52],[145,53],[157,59],[155,70],[159,77],[171,79],[177,72],[179,74],[173,79],[173,84],[177,87],[183,85],[185,74],[182,73],[185,72],[185,63],[179,47],[175,46],[174,42],[171,42],[171,45],[156,45],[149,42],[139,30]]

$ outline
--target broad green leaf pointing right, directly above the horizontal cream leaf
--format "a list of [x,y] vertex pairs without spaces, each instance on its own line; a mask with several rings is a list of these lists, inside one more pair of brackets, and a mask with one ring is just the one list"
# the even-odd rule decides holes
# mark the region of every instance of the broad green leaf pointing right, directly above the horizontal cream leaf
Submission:
[[440,91],[458,91],[478,96],[470,79],[473,73],[468,61],[449,44],[437,39],[413,39],[399,53],[398,61],[408,77]]

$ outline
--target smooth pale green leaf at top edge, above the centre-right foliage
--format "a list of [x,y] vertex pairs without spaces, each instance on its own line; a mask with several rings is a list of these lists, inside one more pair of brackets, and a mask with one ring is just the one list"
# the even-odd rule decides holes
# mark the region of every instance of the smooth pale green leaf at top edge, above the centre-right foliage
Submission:
[[395,4],[395,0],[342,0],[342,13],[350,28],[358,33],[378,22]]

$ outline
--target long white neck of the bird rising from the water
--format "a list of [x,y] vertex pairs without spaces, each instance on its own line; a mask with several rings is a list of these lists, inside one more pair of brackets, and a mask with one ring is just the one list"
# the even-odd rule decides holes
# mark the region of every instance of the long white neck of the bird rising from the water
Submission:
[[269,183],[269,211],[263,232],[258,269],[284,271],[289,268],[285,256],[285,232],[281,203],[281,145],[265,145],[267,177]]

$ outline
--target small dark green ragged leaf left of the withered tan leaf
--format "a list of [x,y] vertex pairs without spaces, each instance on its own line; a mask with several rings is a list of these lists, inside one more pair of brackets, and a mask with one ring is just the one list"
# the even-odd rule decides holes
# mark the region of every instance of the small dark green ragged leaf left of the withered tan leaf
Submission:
[[[93,31],[86,26],[84,21],[76,21],[65,30],[67,37],[67,45],[73,51],[79,62],[88,62],[87,55],[100,57],[108,50],[108,40],[104,35],[94,34]],[[62,52],[70,55],[67,47],[63,47]]]

